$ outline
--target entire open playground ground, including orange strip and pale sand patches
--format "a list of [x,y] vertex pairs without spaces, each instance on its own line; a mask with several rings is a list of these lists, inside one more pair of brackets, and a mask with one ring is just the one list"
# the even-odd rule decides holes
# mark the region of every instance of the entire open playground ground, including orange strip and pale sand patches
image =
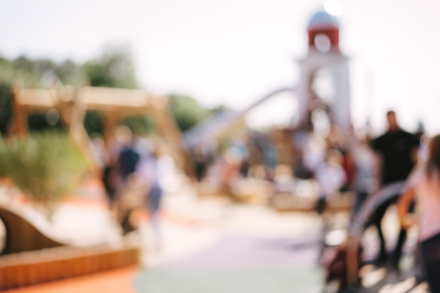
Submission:
[[[258,289],[274,285],[284,288],[279,292],[290,291],[292,286],[303,286],[302,292],[319,292],[322,273],[316,266],[316,243],[320,222],[316,216],[278,214],[262,205],[231,204],[224,197],[198,198],[191,185],[181,186],[164,197],[160,246],[143,216],[138,233],[129,236],[141,240],[140,267],[9,292],[208,292],[200,285],[202,279],[205,286],[217,289],[211,292],[234,288],[267,292]],[[102,191],[93,184],[79,197],[67,200],[54,219],[53,230],[63,240],[82,245],[118,241],[119,230]],[[219,282],[228,285],[221,287]]]

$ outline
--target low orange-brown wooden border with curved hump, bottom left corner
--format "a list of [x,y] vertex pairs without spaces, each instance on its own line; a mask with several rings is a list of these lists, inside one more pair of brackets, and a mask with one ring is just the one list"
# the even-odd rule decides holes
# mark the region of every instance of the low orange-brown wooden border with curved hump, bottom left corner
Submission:
[[141,249],[136,243],[95,239],[90,245],[82,237],[75,240],[75,235],[61,239],[44,216],[11,202],[0,202],[0,224],[5,230],[0,247],[0,291],[139,261]]

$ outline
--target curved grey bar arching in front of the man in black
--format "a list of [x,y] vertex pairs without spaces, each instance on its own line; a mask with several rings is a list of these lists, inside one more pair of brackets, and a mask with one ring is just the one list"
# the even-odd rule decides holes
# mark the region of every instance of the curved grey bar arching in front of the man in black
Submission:
[[361,235],[365,224],[370,219],[377,207],[399,195],[406,185],[406,181],[397,181],[386,185],[373,195],[370,195],[358,209],[354,220],[349,228],[349,237],[347,241],[347,280],[349,286],[358,284],[358,252],[361,243]]

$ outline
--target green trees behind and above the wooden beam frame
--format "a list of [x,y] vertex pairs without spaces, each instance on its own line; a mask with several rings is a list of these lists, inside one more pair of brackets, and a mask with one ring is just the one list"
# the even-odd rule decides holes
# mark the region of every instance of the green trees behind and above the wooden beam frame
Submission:
[[[110,46],[101,56],[84,64],[72,60],[55,62],[48,58],[30,59],[20,56],[14,60],[0,57],[0,134],[6,134],[12,118],[11,85],[20,79],[25,87],[39,88],[51,86],[56,79],[63,84],[82,86],[108,86],[123,89],[136,89],[136,72],[134,63],[127,48]],[[189,96],[170,95],[170,106],[181,131],[186,131],[209,115],[209,110],[202,107]],[[32,114],[29,116],[30,131],[60,129],[60,123],[48,124],[46,115]],[[131,118],[123,122],[134,126],[141,133],[150,132],[153,122],[150,117]],[[84,126],[89,134],[103,133],[103,119],[98,112],[86,113]]]

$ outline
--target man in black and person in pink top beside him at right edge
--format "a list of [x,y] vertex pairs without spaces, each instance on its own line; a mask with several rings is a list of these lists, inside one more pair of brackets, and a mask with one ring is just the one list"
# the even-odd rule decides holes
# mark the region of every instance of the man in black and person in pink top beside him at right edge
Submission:
[[[399,270],[407,230],[418,223],[422,271],[430,292],[440,292],[440,136],[429,140],[425,152],[420,135],[401,129],[396,112],[387,112],[387,123],[387,131],[370,143],[377,166],[375,189],[403,180],[406,180],[406,187],[402,194],[377,207],[371,219],[380,237],[377,261],[390,261],[392,268]],[[398,207],[401,229],[389,259],[381,223],[392,204]]]

